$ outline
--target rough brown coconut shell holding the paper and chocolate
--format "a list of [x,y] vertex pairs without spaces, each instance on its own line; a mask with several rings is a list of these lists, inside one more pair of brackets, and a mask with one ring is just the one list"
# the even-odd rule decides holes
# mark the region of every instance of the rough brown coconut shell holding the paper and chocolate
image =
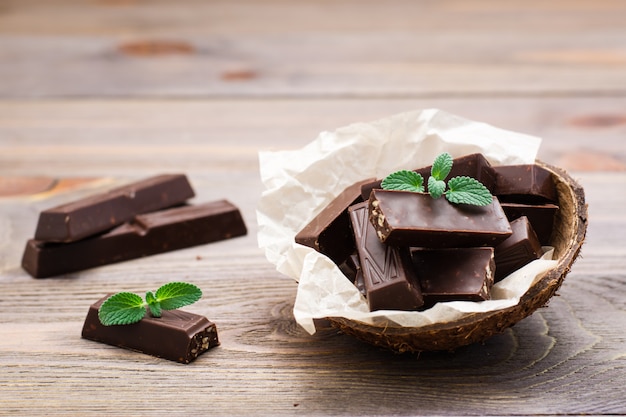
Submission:
[[559,210],[551,245],[558,263],[537,280],[517,305],[422,327],[383,327],[340,317],[329,318],[331,324],[360,340],[400,353],[454,350],[501,333],[538,308],[545,307],[580,253],[587,231],[587,205],[583,188],[569,174],[540,161],[537,164],[553,173],[556,185]]

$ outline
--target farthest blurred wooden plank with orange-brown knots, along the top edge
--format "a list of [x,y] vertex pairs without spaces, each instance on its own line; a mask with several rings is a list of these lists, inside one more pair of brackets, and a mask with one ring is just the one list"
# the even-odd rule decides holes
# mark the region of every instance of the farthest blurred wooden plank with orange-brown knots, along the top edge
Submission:
[[624,94],[619,1],[8,2],[0,97]]

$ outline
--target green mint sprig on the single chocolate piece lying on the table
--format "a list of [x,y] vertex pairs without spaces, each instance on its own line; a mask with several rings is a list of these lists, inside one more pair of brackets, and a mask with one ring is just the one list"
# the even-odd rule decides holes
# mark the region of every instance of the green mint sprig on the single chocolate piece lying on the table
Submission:
[[162,310],[175,310],[193,304],[202,297],[200,288],[186,282],[170,282],[153,294],[146,293],[146,300],[130,292],[119,292],[107,298],[98,309],[98,318],[104,326],[132,324],[146,315],[146,307],[153,317],[161,317]]

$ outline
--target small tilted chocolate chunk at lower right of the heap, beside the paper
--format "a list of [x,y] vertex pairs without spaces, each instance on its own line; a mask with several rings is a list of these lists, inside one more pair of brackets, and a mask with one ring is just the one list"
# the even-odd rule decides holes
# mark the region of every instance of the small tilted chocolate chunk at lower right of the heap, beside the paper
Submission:
[[541,243],[527,217],[512,221],[511,230],[513,234],[495,247],[496,282],[543,255]]

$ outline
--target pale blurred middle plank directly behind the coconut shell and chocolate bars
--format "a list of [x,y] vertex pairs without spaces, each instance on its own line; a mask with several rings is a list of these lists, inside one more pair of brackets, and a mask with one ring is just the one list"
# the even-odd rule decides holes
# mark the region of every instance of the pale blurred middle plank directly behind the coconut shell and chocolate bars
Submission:
[[569,170],[626,169],[626,99],[0,101],[0,173],[128,176],[158,170],[254,178],[257,152],[420,108],[543,138],[539,158]]

